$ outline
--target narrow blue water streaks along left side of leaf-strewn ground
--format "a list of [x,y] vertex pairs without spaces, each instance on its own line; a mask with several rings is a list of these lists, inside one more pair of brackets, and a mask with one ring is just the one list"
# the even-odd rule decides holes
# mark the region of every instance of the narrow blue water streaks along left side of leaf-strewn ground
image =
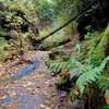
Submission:
[[[29,61],[29,63],[24,69],[20,70],[16,74],[14,74],[13,76],[11,76],[9,78],[1,80],[0,86],[7,86],[8,84],[11,84],[13,81],[20,80],[23,76],[28,75],[35,69],[37,69],[39,65],[40,65],[39,60],[36,60],[36,59],[33,58]],[[5,92],[8,92],[8,88],[0,90],[0,95],[4,94]],[[14,99],[11,98],[11,97],[5,97],[5,98],[0,100],[0,102],[10,102],[10,101],[14,101]]]

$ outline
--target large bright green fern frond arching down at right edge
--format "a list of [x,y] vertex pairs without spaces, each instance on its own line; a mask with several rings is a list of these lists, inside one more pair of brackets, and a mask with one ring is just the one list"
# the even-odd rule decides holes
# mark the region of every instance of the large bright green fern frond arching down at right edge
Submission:
[[99,78],[108,60],[109,57],[107,57],[99,66],[92,68],[92,69],[87,68],[87,72],[82,74],[77,78],[76,86],[78,87],[81,94],[84,93],[85,85],[87,85],[88,83],[92,84],[92,82],[95,82],[97,78]]

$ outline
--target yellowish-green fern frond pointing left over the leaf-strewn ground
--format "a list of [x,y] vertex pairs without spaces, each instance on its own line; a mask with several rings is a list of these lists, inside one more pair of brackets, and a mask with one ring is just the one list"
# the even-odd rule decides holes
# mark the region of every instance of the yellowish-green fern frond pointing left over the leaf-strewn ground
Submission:
[[72,72],[76,69],[80,71],[80,73],[86,71],[85,66],[74,58],[70,58],[68,61],[49,60],[46,63],[52,72],[59,72],[60,70],[69,70],[71,72],[70,74],[72,75]]

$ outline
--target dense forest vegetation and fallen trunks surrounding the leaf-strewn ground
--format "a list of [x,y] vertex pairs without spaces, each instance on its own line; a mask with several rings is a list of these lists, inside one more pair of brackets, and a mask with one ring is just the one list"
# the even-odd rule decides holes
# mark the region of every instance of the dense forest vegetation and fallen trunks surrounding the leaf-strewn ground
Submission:
[[0,0],[0,61],[50,51],[56,86],[81,102],[72,109],[108,109],[108,0]]

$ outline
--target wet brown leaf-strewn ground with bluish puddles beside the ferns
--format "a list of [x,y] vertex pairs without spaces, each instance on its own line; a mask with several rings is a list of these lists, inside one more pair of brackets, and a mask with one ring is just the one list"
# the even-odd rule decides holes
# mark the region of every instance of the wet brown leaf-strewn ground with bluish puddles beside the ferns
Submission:
[[[11,77],[4,77],[0,82],[0,109],[66,109],[66,106],[62,104],[62,97],[64,98],[66,93],[57,90],[53,84],[55,77],[50,76],[45,65],[44,59],[48,55],[49,51],[26,55],[28,59],[33,57],[36,59],[35,69],[26,63],[13,66],[11,66],[12,62],[7,63],[4,69],[11,72],[9,74]],[[1,75],[2,73],[0,72]]]

